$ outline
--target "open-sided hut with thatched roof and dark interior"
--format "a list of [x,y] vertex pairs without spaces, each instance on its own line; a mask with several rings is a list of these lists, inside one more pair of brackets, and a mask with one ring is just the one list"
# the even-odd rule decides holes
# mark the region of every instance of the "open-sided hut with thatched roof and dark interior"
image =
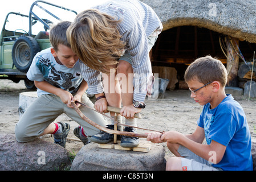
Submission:
[[140,1],[156,11],[164,26],[153,48],[153,66],[174,67],[182,79],[197,57],[217,56],[227,64],[229,85],[238,85],[239,62],[252,60],[256,49],[255,0]]

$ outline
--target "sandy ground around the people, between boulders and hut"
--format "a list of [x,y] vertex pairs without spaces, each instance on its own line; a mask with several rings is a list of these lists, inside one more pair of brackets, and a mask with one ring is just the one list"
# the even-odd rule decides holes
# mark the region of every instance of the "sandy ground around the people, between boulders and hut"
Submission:
[[[30,92],[27,90],[24,82],[15,84],[10,80],[0,80],[0,133],[14,134],[15,124],[19,121],[19,93]],[[147,107],[141,112],[142,118],[137,120],[139,127],[157,131],[176,130],[182,134],[191,134],[196,129],[196,121],[202,111],[202,106],[190,98],[188,90],[174,90],[165,92],[164,98],[157,100],[147,100]],[[256,140],[256,99],[245,98],[243,96],[235,97],[235,100],[241,104],[245,110],[247,122],[249,123],[251,137]],[[95,99],[92,98],[92,102]],[[66,115],[60,115],[58,121],[69,122],[71,131],[68,138],[75,138],[73,130],[78,124],[68,118]],[[145,130],[138,130],[139,133],[145,133]],[[52,137],[44,138],[53,142]],[[165,147],[168,159],[173,154]],[[76,154],[83,147],[82,142],[67,140],[66,148],[72,154]]]

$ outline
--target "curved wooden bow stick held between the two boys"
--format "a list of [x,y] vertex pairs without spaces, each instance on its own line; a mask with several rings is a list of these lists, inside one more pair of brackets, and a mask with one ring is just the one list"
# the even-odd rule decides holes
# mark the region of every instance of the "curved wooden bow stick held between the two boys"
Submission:
[[91,119],[87,118],[78,108],[78,106],[76,106],[76,104],[74,102],[72,102],[72,106],[74,107],[74,109],[76,110],[76,113],[79,114],[79,116],[86,121],[87,123],[89,123],[90,125],[96,127],[96,129],[99,129],[101,131],[105,131],[106,133],[109,134],[116,134],[116,135],[124,135],[124,136],[128,136],[128,137],[139,137],[139,138],[147,138],[148,135],[147,134],[137,134],[137,133],[133,133],[133,132],[127,132],[127,131],[118,131],[118,130],[110,130],[107,129],[103,126],[98,125],[97,123],[91,121]]

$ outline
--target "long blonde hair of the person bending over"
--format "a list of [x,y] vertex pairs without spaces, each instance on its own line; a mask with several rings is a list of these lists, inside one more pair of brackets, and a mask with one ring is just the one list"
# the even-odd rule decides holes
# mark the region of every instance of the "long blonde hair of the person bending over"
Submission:
[[109,73],[124,48],[118,31],[120,22],[99,10],[83,11],[67,30],[71,49],[88,67]]

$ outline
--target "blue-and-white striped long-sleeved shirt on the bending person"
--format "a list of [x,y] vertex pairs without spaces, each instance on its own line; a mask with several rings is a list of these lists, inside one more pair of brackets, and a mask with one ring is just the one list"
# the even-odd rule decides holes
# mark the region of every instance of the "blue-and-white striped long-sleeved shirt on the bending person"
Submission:
[[[108,1],[91,9],[100,10],[103,13],[122,19],[119,24],[121,41],[125,43],[125,49],[132,56],[133,68],[133,99],[144,102],[147,95],[147,85],[152,84],[152,68],[149,59],[148,36],[153,33],[160,34],[162,23],[155,11],[143,2],[137,0]],[[154,35],[154,36],[157,36]],[[88,93],[103,93],[100,72],[92,70],[80,61],[82,75],[88,82]]]

